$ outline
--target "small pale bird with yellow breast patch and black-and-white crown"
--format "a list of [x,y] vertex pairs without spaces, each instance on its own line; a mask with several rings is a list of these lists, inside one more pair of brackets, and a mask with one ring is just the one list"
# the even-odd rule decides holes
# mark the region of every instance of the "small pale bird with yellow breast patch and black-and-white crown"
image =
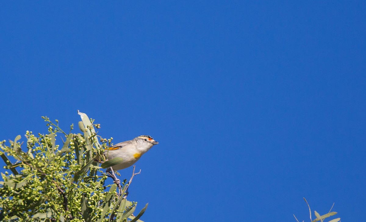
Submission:
[[117,143],[116,145],[106,149],[104,155],[108,160],[112,160],[116,157],[123,158],[119,164],[112,166],[112,169],[117,171],[131,167],[139,160],[142,154],[146,153],[156,144],[158,144],[158,142],[149,135],[141,135],[129,141]]

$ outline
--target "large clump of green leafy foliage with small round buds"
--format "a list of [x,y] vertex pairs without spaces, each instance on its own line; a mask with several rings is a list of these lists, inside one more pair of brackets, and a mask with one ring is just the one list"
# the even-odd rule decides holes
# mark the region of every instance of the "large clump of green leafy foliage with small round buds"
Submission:
[[[91,124],[93,120],[86,124],[87,116],[79,123],[82,133],[71,133],[71,125],[68,134],[57,120],[54,124],[42,118],[47,134],[26,131],[25,145],[19,142],[20,135],[10,144],[0,142],[0,155],[11,171],[1,173],[0,221],[140,221],[147,204],[132,216],[137,203],[118,195],[115,184],[106,185],[107,176],[94,161],[104,158],[102,152],[112,138],[99,137],[94,130],[99,125]],[[122,185],[127,186],[126,180]]]

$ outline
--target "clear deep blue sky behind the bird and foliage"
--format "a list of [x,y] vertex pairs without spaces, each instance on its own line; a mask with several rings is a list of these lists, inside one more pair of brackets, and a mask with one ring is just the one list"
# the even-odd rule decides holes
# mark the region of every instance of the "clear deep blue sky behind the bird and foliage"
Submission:
[[129,195],[149,202],[146,222],[309,221],[303,197],[363,221],[365,11],[2,1],[0,139],[46,133],[43,115],[68,129],[77,110],[115,143],[152,135],[160,143],[137,162]]

